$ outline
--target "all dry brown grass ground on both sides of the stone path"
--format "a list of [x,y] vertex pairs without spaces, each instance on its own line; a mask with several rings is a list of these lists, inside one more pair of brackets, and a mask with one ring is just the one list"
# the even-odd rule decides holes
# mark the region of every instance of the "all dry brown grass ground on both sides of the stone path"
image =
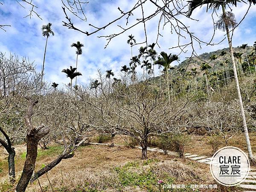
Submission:
[[[124,142],[120,137],[115,137],[115,143]],[[192,136],[192,141],[186,147],[185,152],[209,156],[212,149],[206,143],[206,137]],[[255,153],[255,134],[251,134],[251,144]],[[230,140],[230,145],[246,151],[242,134]],[[15,149],[17,151],[16,172],[18,178],[23,169],[24,159],[21,156],[26,151],[26,147],[21,145]],[[3,169],[3,172],[0,172],[0,180],[3,181],[8,177],[7,154],[4,154],[6,152],[3,148],[0,148],[0,153],[2,154],[0,166]],[[35,169],[40,169],[42,164],[51,162],[57,155],[52,154],[39,158]],[[73,158],[63,160],[48,173],[50,183],[46,175],[40,177],[39,180],[45,192],[52,191],[51,188],[58,192],[153,192],[157,190],[156,183],[159,179],[163,179],[166,183],[186,185],[215,184],[207,164],[150,151],[148,152],[148,159],[148,161],[141,160],[141,151],[137,148],[87,145],[80,147]],[[143,184],[137,180],[134,181],[134,176],[140,178],[139,180]],[[225,190],[227,189],[219,189],[219,191]],[[237,189],[234,190],[238,191]],[[28,186],[27,192],[38,191],[41,191],[38,181]],[[210,190],[207,189],[206,191]]]

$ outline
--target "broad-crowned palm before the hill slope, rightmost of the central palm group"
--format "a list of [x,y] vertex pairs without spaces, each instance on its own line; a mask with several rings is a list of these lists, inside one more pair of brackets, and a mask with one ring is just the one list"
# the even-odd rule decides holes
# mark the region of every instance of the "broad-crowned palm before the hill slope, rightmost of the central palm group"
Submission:
[[166,52],[160,52],[162,57],[159,57],[155,64],[161,65],[164,67],[164,71],[166,73],[166,80],[167,80],[167,90],[168,90],[168,99],[170,103],[170,85],[169,85],[169,69],[172,67],[171,63],[173,61],[179,61],[179,57],[177,55],[172,55],[171,53],[167,55]]

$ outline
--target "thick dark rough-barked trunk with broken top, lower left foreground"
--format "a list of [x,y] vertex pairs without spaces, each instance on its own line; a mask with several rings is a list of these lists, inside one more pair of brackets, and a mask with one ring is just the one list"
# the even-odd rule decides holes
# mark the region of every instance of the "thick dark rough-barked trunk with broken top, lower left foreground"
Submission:
[[[35,132],[35,131],[34,131]],[[35,138],[36,133],[27,135],[27,154],[23,167],[23,172],[16,186],[16,192],[25,192],[29,180],[35,169],[35,160],[37,157],[38,138]]]

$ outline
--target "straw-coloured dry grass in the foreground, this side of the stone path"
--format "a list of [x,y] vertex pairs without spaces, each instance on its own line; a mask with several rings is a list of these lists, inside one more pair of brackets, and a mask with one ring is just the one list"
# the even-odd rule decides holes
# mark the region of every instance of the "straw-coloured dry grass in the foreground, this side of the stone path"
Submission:
[[[17,153],[17,157],[21,154],[21,152]],[[141,151],[138,149],[120,146],[110,148],[104,145],[88,145],[79,148],[76,151],[75,157],[63,160],[49,172],[48,177],[54,191],[61,192],[75,191],[75,189],[80,191],[99,189],[106,192],[147,191],[144,185],[120,184],[120,175],[115,169],[120,168],[123,170],[124,167],[131,163],[131,166],[128,166],[127,169],[127,172],[131,174],[142,177],[142,175],[153,172],[153,175],[145,177],[145,183],[147,178],[149,178],[156,185],[158,179],[169,177],[172,178],[173,183],[177,184],[215,183],[212,179],[209,180],[211,176],[207,165],[195,163],[187,159],[176,159],[173,156],[166,156],[161,153],[148,152],[148,159],[151,159],[148,161],[141,160],[140,156]],[[42,164],[47,164],[53,159],[54,157],[46,157],[38,160],[36,169],[38,170]],[[23,161],[20,160],[20,163],[16,163],[17,177],[23,167]],[[2,174],[1,177],[6,178],[6,175]],[[46,175],[40,177],[39,180],[45,191],[52,191]],[[38,181],[30,184],[27,191],[41,191]]]

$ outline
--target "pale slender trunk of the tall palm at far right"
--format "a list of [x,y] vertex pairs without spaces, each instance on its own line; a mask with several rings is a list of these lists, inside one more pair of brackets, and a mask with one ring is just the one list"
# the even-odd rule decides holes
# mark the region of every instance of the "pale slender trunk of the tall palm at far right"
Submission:
[[[222,12],[223,12],[223,16],[226,17],[226,11],[225,11],[225,7],[223,5],[222,5]],[[237,77],[237,74],[236,74],[236,62],[235,62],[235,58],[234,58],[234,55],[233,55],[232,42],[231,42],[231,39],[230,39],[230,33],[229,33],[227,23],[225,23],[225,25],[226,25],[226,31],[227,31],[228,44],[229,44],[229,47],[230,47],[230,55],[231,55],[231,59],[232,59],[232,62],[233,62],[233,70],[234,70],[234,76],[235,76],[235,81],[236,81],[236,90],[237,90],[237,95],[238,95],[238,99],[239,99],[239,106],[240,106],[240,110],[241,110],[241,116],[242,116],[242,119],[243,119],[244,134],[245,134],[245,139],[246,139],[246,144],[247,144],[247,151],[248,151],[250,162],[255,164],[256,161],[253,158],[253,152],[252,152],[252,148],[251,148],[251,145],[250,145],[250,137],[249,137],[249,134],[248,134],[247,124],[246,124],[246,119],[245,119],[245,114],[244,114],[244,105],[243,105],[243,101],[242,101],[242,97],[241,97],[241,93],[240,93],[238,77]]]

